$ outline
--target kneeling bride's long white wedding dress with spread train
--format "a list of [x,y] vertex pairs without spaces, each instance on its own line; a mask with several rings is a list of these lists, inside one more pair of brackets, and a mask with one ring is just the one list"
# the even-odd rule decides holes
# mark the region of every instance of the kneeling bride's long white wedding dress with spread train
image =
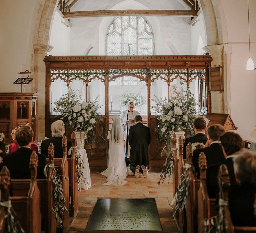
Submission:
[[[107,139],[111,138],[110,130],[108,131]],[[107,177],[107,183],[104,185],[125,185],[126,181],[126,165],[124,158],[124,140],[125,134],[120,132],[119,142],[111,142],[108,151],[108,168],[101,172]]]

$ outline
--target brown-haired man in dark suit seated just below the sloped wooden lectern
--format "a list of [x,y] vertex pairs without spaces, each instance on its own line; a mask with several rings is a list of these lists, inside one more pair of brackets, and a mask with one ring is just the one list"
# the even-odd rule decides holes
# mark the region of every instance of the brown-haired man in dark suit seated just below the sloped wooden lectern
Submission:
[[199,174],[199,166],[198,166],[198,158],[201,152],[205,153],[207,167],[214,163],[218,163],[225,160],[222,147],[220,145],[220,136],[226,132],[225,128],[220,124],[212,124],[207,128],[208,140],[206,142],[207,147],[203,149],[194,150],[193,152],[193,165],[195,167],[195,172],[197,173],[197,177],[200,177]]

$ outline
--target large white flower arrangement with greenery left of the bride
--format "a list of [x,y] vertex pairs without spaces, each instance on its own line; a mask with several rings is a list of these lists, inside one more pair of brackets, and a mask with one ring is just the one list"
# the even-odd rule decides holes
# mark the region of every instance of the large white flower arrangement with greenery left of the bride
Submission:
[[94,139],[95,122],[98,118],[98,110],[102,107],[98,104],[98,97],[94,101],[81,103],[79,93],[75,93],[68,87],[66,95],[54,102],[54,112],[60,115],[60,119],[73,130],[83,131],[86,141]]

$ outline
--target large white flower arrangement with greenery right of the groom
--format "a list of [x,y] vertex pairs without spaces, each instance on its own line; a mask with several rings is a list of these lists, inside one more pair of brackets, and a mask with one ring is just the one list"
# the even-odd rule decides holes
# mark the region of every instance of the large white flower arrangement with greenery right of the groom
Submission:
[[185,91],[177,91],[174,87],[170,100],[156,98],[153,101],[156,105],[150,107],[159,115],[156,132],[164,140],[165,146],[172,140],[174,131],[184,130],[187,135],[193,133],[193,121],[197,111],[196,101],[189,87]]

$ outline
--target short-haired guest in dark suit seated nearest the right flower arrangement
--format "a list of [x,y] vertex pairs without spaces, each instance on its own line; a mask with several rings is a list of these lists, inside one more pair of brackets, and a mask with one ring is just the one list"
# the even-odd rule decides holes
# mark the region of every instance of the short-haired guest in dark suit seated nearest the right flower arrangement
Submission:
[[192,137],[187,137],[185,139],[183,147],[183,158],[187,158],[186,146],[189,142],[191,142],[192,144],[196,142],[205,144],[207,141],[207,136],[205,135],[206,122],[204,120],[204,117],[200,116],[194,120],[193,129],[196,135]]

